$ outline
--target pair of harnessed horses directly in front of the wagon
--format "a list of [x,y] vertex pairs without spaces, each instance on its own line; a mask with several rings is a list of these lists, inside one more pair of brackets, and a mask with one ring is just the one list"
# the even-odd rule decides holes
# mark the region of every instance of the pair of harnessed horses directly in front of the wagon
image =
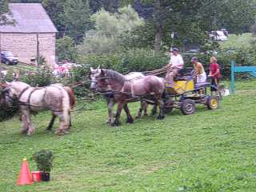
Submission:
[[[107,98],[109,110],[107,122],[111,122],[112,126],[120,125],[119,118],[122,109],[126,112],[127,122],[134,122],[127,105],[129,102],[141,101],[138,117],[141,116],[142,110],[146,110],[145,105],[150,101],[154,103],[153,114],[156,113],[157,106],[159,106],[158,119],[165,118],[163,101],[166,88],[165,80],[154,75],[144,76],[141,73],[139,74],[137,76],[133,76],[133,74],[122,75],[114,70],[90,68],[90,89],[97,90]],[[118,110],[114,122],[112,122],[114,103],[118,103]]]

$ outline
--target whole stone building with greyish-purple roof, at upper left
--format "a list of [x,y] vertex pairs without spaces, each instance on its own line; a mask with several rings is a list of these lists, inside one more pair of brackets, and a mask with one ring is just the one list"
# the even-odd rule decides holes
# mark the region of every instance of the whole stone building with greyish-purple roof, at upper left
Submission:
[[37,55],[47,64],[55,63],[55,36],[58,32],[39,3],[10,3],[14,26],[0,26],[1,50],[9,50],[19,62],[37,65]]

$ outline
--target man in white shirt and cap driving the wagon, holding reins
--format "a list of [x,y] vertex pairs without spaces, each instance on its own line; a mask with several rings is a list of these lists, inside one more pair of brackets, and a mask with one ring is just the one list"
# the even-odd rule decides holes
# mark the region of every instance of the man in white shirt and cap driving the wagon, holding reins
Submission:
[[178,70],[181,70],[184,66],[184,61],[182,55],[179,54],[178,48],[173,48],[170,50],[170,62],[166,66],[166,82],[171,85],[174,82],[174,77],[178,74]]

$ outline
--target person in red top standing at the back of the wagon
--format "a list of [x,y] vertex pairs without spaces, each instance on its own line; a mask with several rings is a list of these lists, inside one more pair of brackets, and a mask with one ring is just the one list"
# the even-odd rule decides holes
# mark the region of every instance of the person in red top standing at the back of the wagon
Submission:
[[[211,78],[211,85],[214,87],[211,87],[211,91],[217,91],[218,83],[221,78],[221,71],[217,63],[217,58],[211,57],[210,58],[210,74],[209,77]],[[215,88],[216,87],[216,88]]]

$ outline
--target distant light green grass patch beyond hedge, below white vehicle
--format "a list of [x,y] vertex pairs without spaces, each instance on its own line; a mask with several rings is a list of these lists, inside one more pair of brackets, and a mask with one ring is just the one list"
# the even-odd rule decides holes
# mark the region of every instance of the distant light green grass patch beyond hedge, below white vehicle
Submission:
[[251,33],[246,34],[230,34],[229,38],[225,42],[219,42],[222,49],[240,49],[240,48],[250,48],[250,42],[253,40],[253,35]]

